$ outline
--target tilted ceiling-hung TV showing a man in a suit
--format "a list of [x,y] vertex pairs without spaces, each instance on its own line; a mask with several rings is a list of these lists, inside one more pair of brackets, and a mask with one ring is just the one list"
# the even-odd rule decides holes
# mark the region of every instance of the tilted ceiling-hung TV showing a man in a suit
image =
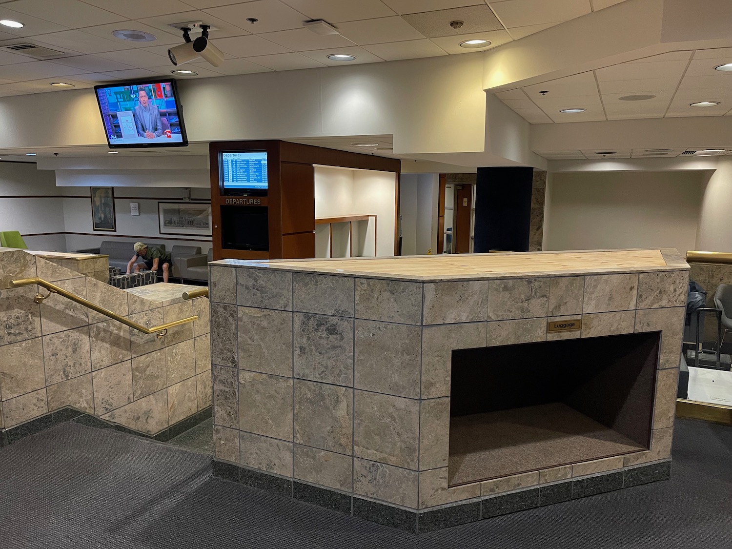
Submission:
[[109,146],[187,146],[176,81],[94,86]]

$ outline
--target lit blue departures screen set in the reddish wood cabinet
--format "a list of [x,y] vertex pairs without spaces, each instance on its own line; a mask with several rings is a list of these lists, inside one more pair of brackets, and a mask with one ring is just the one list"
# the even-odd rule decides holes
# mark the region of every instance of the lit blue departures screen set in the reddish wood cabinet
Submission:
[[269,179],[265,151],[224,151],[220,154],[223,194],[266,195]]

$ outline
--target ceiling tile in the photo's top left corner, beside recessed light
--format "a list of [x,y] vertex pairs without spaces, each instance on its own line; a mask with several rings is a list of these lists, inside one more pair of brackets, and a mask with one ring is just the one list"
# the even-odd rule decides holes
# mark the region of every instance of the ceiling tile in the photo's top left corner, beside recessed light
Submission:
[[10,10],[53,21],[70,29],[123,21],[121,15],[100,10],[80,0],[16,0],[4,4]]

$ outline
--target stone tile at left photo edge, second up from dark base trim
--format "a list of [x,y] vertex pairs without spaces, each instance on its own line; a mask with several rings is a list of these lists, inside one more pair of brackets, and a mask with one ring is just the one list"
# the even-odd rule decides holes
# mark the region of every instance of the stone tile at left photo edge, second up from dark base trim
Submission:
[[1,400],[43,389],[45,367],[40,337],[0,347]]

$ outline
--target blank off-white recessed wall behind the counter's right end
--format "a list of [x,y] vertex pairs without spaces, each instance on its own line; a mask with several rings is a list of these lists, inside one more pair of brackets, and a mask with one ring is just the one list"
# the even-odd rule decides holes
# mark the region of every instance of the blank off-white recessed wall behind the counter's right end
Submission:
[[693,250],[705,182],[700,171],[552,173],[544,250]]

